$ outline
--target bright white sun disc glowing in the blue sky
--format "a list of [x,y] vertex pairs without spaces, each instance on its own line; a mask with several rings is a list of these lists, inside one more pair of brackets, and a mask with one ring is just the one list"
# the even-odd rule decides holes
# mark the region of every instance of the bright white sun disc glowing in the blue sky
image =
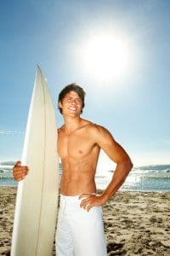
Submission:
[[82,61],[86,73],[94,78],[122,78],[130,67],[128,44],[116,35],[94,36],[83,47]]

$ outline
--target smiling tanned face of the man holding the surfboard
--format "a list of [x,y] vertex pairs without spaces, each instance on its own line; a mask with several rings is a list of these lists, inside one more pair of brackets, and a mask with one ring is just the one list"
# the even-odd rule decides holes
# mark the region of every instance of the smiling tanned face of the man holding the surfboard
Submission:
[[63,115],[80,115],[82,111],[82,100],[77,95],[77,92],[71,90],[65,95],[62,102],[59,102],[59,108],[62,108]]

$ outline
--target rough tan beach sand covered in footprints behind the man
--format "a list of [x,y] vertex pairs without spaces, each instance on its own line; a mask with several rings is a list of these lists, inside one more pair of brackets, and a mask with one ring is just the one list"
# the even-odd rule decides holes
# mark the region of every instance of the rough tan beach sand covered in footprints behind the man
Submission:
[[[16,188],[0,196],[0,255],[10,255]],[[103,210],[108,255],[170,255],[170,192],[118,191]]]

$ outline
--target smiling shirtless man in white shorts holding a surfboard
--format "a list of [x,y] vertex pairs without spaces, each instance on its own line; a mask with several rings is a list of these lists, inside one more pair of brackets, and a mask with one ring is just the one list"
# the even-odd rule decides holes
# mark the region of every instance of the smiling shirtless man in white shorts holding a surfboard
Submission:
[[[63,167],[56,233],[58,256],[107,254],[101,206],[121,187],[133,166],[109,131],[80,117],[84,96],[84,90],[77,84],[69,84],[59,93],[59,112],[65,124],[58,131],[58,152]],[[94,176],[100,148],[116,162],[116,171],[105,191],[97,195]],[[18,181],[27,172],[28,167],[20,162],[14,166],[14,178]]]

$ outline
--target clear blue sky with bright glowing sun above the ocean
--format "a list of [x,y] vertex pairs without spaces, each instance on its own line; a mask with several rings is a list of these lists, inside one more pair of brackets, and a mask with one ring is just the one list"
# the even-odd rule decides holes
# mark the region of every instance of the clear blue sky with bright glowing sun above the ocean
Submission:
[[1,0],[0,161],[21,159],[37,65],[58,125],[59,91],[76,82],[82,117],[111,131],[134,166],[170,164],[170,1]]

